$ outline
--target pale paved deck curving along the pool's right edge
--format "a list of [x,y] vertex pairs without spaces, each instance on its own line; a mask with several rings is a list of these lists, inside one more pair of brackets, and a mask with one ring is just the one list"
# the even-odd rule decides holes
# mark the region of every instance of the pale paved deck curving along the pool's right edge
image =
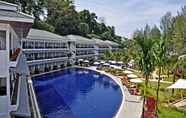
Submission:
[[122,85],[121,80],[118,79],[118,77],[110,73],[97,70],[96,67],[88,67],[88,69],[110,76],[114,81],[117,82],[118,85],[120,85],[124,98],[115,118],[141,118],[143,110],[143,97],[130,95],[129,91],[125,86]]

